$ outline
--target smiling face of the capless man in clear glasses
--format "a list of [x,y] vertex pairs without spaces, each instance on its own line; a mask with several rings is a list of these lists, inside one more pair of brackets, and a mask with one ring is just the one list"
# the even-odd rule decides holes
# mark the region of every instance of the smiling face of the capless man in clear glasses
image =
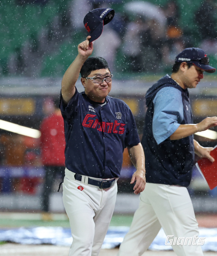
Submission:
[[[98,69],[92,71],[88,77],[94,77],[96,75],[107,75],[110,74],[109,69]],[[81,83],[84,86],[85,94],[92,101],[103,103],[105,97],[109,94],[112,86],[112,82],[96,84],[91,79],[81,78]]]

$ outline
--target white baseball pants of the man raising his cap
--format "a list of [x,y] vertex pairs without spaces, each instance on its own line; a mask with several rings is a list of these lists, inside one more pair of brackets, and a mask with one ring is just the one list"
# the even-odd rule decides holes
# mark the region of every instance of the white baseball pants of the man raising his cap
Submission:
[[69,256],[97,256],[115,208],[117,183],[100,189],[75,180],[74,174],[65,169],[63,182],[63,204],[73,237]]

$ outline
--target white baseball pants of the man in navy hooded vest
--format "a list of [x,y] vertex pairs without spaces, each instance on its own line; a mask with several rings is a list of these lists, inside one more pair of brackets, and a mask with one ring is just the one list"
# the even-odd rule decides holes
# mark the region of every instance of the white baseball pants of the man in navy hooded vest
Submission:
[[[139,208],[134,214],[129,232],[120,245],[118,256],[145,255],[144,252],[161,227],[166,236],[174,235],[177,239],[198,237],[198,223],[187,188],[146,183],[144,191],[140,193]],[[199,245],[172,247],[178,256],[203,255]]]

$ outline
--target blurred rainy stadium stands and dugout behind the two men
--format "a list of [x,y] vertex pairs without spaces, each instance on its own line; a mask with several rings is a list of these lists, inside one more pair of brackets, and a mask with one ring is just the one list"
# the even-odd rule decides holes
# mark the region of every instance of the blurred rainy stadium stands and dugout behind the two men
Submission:
[[[131,6],[133,3],[133,7]],[[142,136],[146,90],[171,73],[175,56],[186,47],[201,47],[217,67],[217,3],[214,0],[10,0],[0,2],[0,228],[69,227],[64,217],[60,177],[52,187],[48,220],[41,214],[44,168],[39,135],[8,131],[1,121],[39,130],[49,104],[59,98],[61,79],[87,36],[85,14],[111,7],[116,14],[94,43],[114,74],[111,96],[131,108]],[[147,12],[150,10],[152,12]],[[216,116],[216,74],[204,74],[190,90],[194,122]],[[77,83],[82,91],[82,86]],[[217,128],[212,128],[217,132]],[[217,133],[195,135],[202,146],[214,147]],[[32,137],[31,137],[32,136]],[[124,151],[118,197],[111,225],[129,226],[138,207],[130,179],[134,167]],[[215,227],[217,188],[210,190],[194,169],[189,187],[200,226]],[[19,214],[14,214],[19,213]],[[20,214],[22,213],[22,214]],[[25,214],[24,214],[25,213]],[[35,213],[33,215],[26,215]],[[31,217],[28,217],[31,216]]]

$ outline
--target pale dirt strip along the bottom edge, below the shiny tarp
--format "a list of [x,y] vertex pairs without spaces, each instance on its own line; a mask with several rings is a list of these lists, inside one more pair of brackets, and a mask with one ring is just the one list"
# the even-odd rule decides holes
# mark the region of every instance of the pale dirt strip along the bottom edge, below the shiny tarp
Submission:
[[[7,243],[0,245],[1,256],[68,256],[68,247],[55,245],[20,245]],[[118,249],[102,249],[99,256],[116,256]],[[147,256],[176,256],[173,251],[147,251]],[[204,252],[204,256],[214,256],[216,252]]]

